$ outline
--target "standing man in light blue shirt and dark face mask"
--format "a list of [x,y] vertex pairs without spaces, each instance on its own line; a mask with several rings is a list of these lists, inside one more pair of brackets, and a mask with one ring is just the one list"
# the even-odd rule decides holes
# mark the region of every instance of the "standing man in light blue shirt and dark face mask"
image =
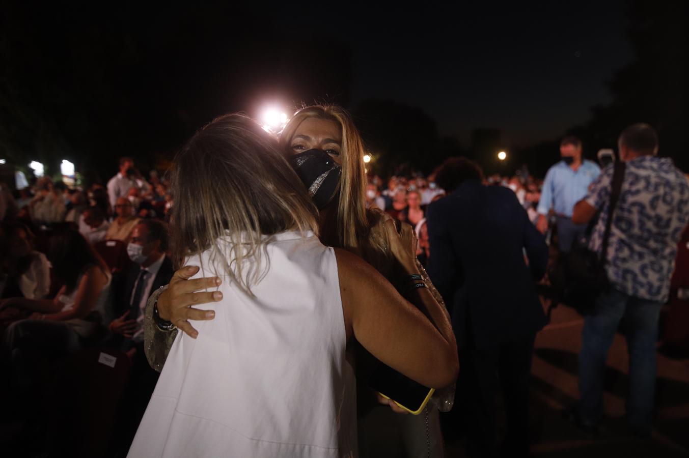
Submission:
[[575,240],[584,236],[586,225],[572,222],[574,205],[588,192],[588,186],[598,178],[601,169],[593,161],[582,159],[582,141],[568,136],[560,142],[562,160],[546,174],[538,202],[538,230],[548,231],[548,214],[557,216],[557,240],[561,253],[569,253]]

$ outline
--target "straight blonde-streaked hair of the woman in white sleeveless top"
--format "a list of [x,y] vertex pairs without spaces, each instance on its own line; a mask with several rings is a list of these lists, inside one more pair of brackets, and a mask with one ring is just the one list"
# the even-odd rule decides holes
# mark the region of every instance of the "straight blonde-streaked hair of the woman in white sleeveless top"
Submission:
[[246,116],[220,116],[196,132],[174,159],[171,191],[176,266],[211,249],[216,275],[220,265],[249,295],[268,269],[270,236],[318,234],[316,207],[276,139]]

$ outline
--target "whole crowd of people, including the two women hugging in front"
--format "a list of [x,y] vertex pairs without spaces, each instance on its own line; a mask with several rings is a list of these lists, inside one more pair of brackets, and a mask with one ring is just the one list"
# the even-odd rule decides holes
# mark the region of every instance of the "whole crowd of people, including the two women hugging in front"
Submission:
[[[567,415],[597,432],[606,353],[625,318],[628,421],[648,435],[659,313],[684,291],[671,279],[689,222],[687,178],[657,151],[648,125],[621,134],[612,220],[619,167],[608,153],[584,159],[578,138],[562,140],[544,180],[525,168],[486,177],[466,158],[383,178],[365,171],[347,113],[321,106],[300,110],[279,139],[243,116],[218,118],[169,178],[146,180],[123,157],[105,187],[37,178],[3,191],[1,357],[4,388],[17,393],[3,421],[59,436],[41,399],[65,361],[99,348],[127,361],[121,395],[110,393],[114,456],[367,457],[376,410],[404,432],[407,455],[442,457],[438,410],[452,404],[457,364],[460,408],[443,421],[466,431],[472,456],[526,456],[531,355],[547,323],[539,285],[553,250],[564,262],[590,240],[606,247],[610,287],[586,315],[581,400]],[[371,392],[369,359],[438,388],[422,415]],[[64,452],[65,441],[42,446]]]

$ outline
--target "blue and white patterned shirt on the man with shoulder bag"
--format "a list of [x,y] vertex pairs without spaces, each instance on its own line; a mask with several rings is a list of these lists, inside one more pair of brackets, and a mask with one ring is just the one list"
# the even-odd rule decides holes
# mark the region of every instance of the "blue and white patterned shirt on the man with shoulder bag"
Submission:
[[[590,187],[586,202],[601,210],[590,240],[600,253],[608,220],[614,167]],[[677,243],[689,222],[689,182],[670,158],[641,156],[627,162],[608,241],[608,278],[637,298],[665,302]]]

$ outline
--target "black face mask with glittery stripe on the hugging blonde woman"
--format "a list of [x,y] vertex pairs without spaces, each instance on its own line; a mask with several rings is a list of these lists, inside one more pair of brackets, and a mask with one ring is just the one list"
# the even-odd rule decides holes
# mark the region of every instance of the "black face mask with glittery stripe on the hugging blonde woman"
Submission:
[[290,161],[319,210],[339,196],[342,166],[329,154],[320,149],[309,149],[291,156]]

